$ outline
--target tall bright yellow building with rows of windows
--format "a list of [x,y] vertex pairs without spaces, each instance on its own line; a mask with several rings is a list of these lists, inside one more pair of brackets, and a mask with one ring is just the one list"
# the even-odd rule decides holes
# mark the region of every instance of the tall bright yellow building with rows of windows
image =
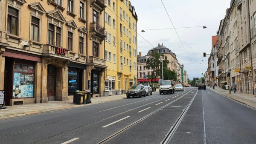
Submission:
[[105,0],[105,95],[137,83],[137,14],[129,0]]

